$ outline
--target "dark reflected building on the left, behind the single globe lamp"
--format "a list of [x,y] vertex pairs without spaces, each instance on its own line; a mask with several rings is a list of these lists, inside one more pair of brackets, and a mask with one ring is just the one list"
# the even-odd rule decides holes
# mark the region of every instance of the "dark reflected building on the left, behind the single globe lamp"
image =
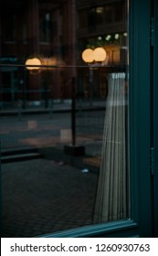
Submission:
[[[9,64],[13,61],[14,64],[24,64],[31,56],[42,59],[44,65],[71,64],[69,63],[71,31],[68,29],[71,2],[71,0],[13,0],[11,3],[3,1],[0,17],[1,64]],[[17,100],[21,97],[19,93],[22,93],[21,89],[22,87],[24,89],[24,86],[27,100],[39,100],[46,87],[51,91],[49,97],[68,97],[68,88],[63,90],[62,83],[69,80],[69,75],[70,72],[65,69],[43,69],[39,74],[30,76],[25,69],[3,68],[1,99]],[[38,91],[39,89],[41,92]]]

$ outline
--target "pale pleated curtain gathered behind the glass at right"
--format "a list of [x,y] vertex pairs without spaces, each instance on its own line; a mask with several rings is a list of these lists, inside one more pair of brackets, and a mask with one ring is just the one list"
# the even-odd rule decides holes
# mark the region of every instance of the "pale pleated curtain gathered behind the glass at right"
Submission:
[[95,223],[127,217],[125,73],[109,74],[108,86]]

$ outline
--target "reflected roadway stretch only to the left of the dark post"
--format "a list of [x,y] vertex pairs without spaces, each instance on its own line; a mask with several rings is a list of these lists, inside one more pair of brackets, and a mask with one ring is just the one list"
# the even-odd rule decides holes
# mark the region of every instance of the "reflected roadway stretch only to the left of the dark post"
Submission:
[[40,146],[59,141],[60,131],[69,128],[69,114],[55,114],[50,119],[46,115],[1,118],[2,149],[21,146]]

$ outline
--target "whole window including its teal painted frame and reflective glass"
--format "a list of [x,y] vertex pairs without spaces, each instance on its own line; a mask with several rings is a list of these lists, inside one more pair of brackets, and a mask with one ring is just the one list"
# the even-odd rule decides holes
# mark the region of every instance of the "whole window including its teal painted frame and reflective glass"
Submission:
[[3,237],[157,235],[157,1],[33,4],[26,44],[0,16]]

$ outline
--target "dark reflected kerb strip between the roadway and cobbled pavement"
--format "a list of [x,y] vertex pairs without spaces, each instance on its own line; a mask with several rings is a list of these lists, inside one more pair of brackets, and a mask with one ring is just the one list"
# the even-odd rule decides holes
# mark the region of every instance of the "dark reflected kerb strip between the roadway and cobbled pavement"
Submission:
[[[92,150],[93,147],[93,150]],[[78,168],[88,168],[90,171],[99,172],[100,152],[96,151],[96,146],[92,144],[85,145],[85,155],[67,155],[64,152],[63,145],[55,144],[42,147],[26,147],[10,150],[3,150],[1,153],[1,163],[15,163],[32,159],[48,159],[73,165]]]

